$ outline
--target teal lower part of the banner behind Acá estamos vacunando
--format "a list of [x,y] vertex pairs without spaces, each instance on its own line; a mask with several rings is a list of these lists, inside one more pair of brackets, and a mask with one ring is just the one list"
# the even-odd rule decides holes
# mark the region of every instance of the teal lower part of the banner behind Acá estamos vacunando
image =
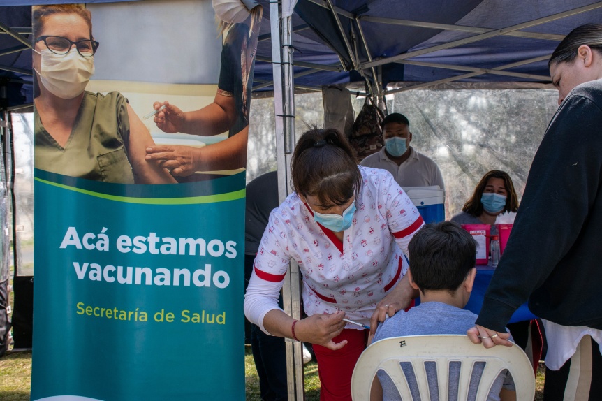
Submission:
[[[36,170],[35,205],[31,400],[61,395],[116,401],[244,399],[244,172],[206,182],[124,185]],[[89,245],[96,245],[104,231],[108,250],[86,249],[83,242],[81,249],[61,248],[70,227],[80,241],[89,233]],[[163,238],[203,239],[207,245],[216,240],[209,247],[213,256],[209,251],[201,256],[199,247],[195,255],[189,247],[182,255],[117,249],[122,235],[142,240],[151,233],[161,238],[156,249],[166,243]],[[235,245],[226,247],[228,241]],[[102,243],[99,247],[104,249]],[[82,278],[74,263],[89,263],[85,274],[80,270]],[[91,279],[91,263],[106,277]],[[156,282],[146,285],[144,275],[142,284],[108,282],[107,277],[117,277],[117,271],[105,269],[108,265],[149,268]],[[173,283],[157,269],[170,272],[172,281],[174,269],[188,269],[192,276],[209,270],[207,265],[208,286],[197,286],[192,277],[189,286],[183,280],[179,286],[159,285],[161,279]],[[219,288],[226,275],[228,285]],[[113,309],[111,317],[94,316],[100,308]],[[115,309],[126,320],[115,319]],[[205,323],[182,321],[186,310],[190,319],[204,316]],[[161,311],[163,321],[157,321]],[[214,323],[207,323],[212,316]]]

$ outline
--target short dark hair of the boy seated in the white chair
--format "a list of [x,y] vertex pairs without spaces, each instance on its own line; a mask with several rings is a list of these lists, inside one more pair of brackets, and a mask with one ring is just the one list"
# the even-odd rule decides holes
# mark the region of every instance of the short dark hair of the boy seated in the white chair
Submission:
[[475,265],[476,246],[460,224],[427,224],[408,246],[413,281],[422,292],[448,290],[453,295]]

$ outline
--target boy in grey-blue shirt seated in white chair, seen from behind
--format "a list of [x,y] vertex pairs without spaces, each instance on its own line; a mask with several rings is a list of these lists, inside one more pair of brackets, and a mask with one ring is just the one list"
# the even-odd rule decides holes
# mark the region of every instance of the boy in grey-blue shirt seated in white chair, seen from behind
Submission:
[[[399,311],[376,329],[374,341],[388,337],[430,334],[466,334],[474,326],[477,315],[462,309],[468,302],[476,275],[476,241],[460,225],[452,221],[427,224],[409,243],[409,280],[420,291],[420,305]],[[476,365],[475,370],[483,371]],[[478,372],[478,377],[480,377]],[[436,383],[436,371],[427,368],[429,383]],[[450,395],[452,391],[450,381]],[[417,384],[409,381],[415,399]],[[457,386],[457,383],[455,384]],[[432,388],[431,391],[436,391]],[[472,392],[472,393],[471,393]],[[476,395],[471,386],[469,400]],[[503,370],[494,381],[487,400],[515,400],[512,377]],[[371,400],[401,400],[395,384],[384,371],[379,371],[372,386]],[[405,401],[405,400],[404,400]]]

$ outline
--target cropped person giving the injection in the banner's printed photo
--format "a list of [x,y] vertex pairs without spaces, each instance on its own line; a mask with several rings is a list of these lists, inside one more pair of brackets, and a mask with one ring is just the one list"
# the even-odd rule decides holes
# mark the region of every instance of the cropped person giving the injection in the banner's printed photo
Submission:
[[[214,0],[219,33],[223,36],[221,70],[213,103],[183,112],[169,101],[155,102],[156,126],[166,133],[214,136],[228,131],[228,139],[207,147],[156,146],[146,159],[160,161],[172,175],[197,171],[235,170],[247,164],[249,99],[262,8],[254,1],[227,8],[233,2]],[[250,8],[250,11],[249,11]]]

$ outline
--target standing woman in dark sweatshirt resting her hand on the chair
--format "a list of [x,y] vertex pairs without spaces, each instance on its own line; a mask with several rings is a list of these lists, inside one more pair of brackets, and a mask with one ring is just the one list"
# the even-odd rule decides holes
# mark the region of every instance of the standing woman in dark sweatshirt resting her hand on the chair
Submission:
[[548,340],[544,400],[602,400],[602,25],[571,31],[548,65],[560,107],[469,337],[508,345],[529,298]]

